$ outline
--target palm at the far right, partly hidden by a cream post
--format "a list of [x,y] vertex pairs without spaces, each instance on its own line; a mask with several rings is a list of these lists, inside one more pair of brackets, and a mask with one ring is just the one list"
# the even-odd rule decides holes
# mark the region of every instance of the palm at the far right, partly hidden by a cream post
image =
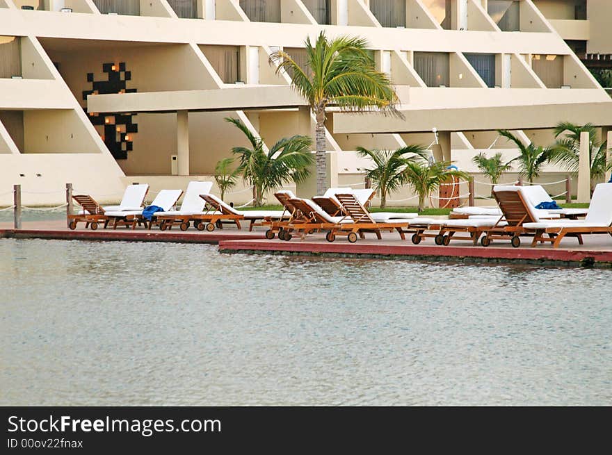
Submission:
[[[570,122],[558,123],[554,129],[557,142],[552,147],[550,160],[577,174],[580,162],[580,133],[583,132],[589,136],[590,189],[593,192],[595,183],[604,179],[606,171],[612,169],[612,163],[606,163],[608,144],[605,140],[603,142],[597,140],[597,131],[593,124],[580,126]],[[562,134],[563,138],[558,139]]]

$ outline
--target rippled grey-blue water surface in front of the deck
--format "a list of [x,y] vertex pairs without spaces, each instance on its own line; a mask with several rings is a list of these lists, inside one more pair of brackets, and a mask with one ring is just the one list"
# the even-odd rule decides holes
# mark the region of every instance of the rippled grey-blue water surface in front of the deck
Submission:
[[1,405],[610,405],[612,270],[0,240]]

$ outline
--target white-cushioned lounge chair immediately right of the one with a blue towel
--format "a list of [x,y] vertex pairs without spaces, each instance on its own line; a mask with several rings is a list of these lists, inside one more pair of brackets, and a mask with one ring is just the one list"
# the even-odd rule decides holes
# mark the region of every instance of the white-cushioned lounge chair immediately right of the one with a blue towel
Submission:
[[153,225],[157,225],[161,231],[165,231],[166,229],[172,229],[172,225],[178,223],[181,231],[186,231],[192,221],[193,226],[197,228],[204,219],[204,206],[206,205],[200,195],[209,192],[211,188],[213,188],[212,182],[189,182],[180,210],[154,213],[149,223],[149,229]]

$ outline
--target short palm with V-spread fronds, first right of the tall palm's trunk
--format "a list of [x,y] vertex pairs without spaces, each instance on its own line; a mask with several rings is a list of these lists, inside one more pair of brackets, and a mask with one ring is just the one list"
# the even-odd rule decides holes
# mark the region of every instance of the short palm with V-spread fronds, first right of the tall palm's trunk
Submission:
[[405,169],[410,160],[417,156],[426,157],[425,148],[409,145],[397,150],[368,150],[357,147],[357,154],[371,158],[372,169],[366,169],[366,178],[374,183],[374,190],[380,193],[380,208],[387,205],[387,194],[397,191],[406,183]]

